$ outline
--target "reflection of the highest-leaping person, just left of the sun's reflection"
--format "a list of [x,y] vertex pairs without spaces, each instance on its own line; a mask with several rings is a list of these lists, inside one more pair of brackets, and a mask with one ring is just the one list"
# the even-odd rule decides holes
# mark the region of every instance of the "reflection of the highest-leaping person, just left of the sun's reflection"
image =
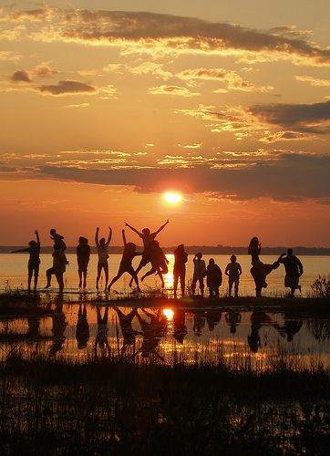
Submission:
[[162,314],[161,310],[158,310],[155,313],[147,312],[144,309],[141,309],[141,311],[145,316],[150,318],[150,322],[140,316],[139,312],[137,312],[139,325],[141,326],[143,334],[142,347],[140,347],[138,353],[141,353],[143,358],[149,358],[150,355],[154,355],[156,358],[159,358],[160,361],[165,362],[165,359],[158,353],[157,347],[160,344],[160,339],[165,335],[167,319]]

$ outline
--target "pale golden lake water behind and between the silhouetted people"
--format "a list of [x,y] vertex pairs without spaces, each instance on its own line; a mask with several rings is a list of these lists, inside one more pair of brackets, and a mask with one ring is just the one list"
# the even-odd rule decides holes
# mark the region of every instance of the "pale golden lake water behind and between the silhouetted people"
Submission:
[[[169,274],[166,275],[165,283],[166,288],[169,290],[173,285],[173,255],[167,255],[170,260]],[[210,258],[214,258],[216,263],[220,265],[222,273],[229,263],[228,255],[204,255],[206,264]],[[4,290],[7,285],[15,289],[26,288],[26,269],[27,269],[27,254],[0,254],[0,290]],[[67,291],[77,290],[77,259],[75,254],[67,254],[69,265],[67,266],[67,273],[65,274],[65,283]],[[110,279],[117,275],[119,268],[119,262],[121,255],[113,254],[110,255],[108,260],[109,264],[109,277]],[[275,256],[263,256],[264,263],[273,263],[276,259]],[[329,275],[330,274],[330,256],[301,256],[302,263],[304,264],[304,275],[301,278],[301,285],[303,287],[303,295],[308,295],[311,292],[310,285],[315,281],[318,275]],[[254,295],[254,284],[253,279],[250,275],[250,256],[240,255],[238,261],[242,265],[242,277],[240,283],[240,295]],[[93,254],[90,257],[88,266],[88,291],[95,291],[95,280],[97,275],[97,255]],[[139,264],[139,257],[135,259],[134,266]],[[39,275],[39,287],[42,288],[46,285],[46,269],[52,266],[51,254],[41,255],[40,264],[40,275]],[[143,272],[148,271],[148,266],[142,270]],[[193,271],[192,255],[189,257],[187,263],[187,282],[191,279]],[[116,292],[128,293],[129,292],[129,275],[123,275],[121,279],[114,285],[114,295]],[[278,269],[273,271],[267,278],[268,287],[263,291],[263,295],[281,295],[285,293],[284,289],[284,266],[281,265]],[[53,285],[56,288],[56,279],[53,279]],[[100,284],[102,285],[102,284]],[[151,288],[160,287],[160,280],[157,276],[150,276],[141,284],[141,289],[150,291]],[[227,277],[224,277],[221,287],[221,295],[226,295],[227,292]],[[170,291],[169,291],[170,295]]]

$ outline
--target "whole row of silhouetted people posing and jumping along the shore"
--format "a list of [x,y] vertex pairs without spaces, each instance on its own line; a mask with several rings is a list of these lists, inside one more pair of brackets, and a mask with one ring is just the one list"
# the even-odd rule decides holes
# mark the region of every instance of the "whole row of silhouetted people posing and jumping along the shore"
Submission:
[[[140,277],[140,281],[148,277],[149,275],[158,275],[160,277],[160,282],[162,287],[164,287],[164,278],[163,275],[168,274],[169,261],[166,258],[163,250],[160,247],[160,243],[156,241],[156,236],[160,233],[161,230],[169,223],[169,220],[166,223],[162,224],[160,228],[151,233],[149,228],[144,228],[139,232],[136,228],[125,223],[129,229],[137,233],[143,243],[143,251],[141,253],[137,252],[137,244],[132,242],[127,242],[125,230],[122,230],[122,240],[123,240],[123,254],[119,264],[119,271],[115,277],[109,282],[108,277],[108,246],[112,237],[112,230],[108,227],[108,239],[105,237],[99,238],[99,228],[97,228],[95,233],[95,244],[97,247],[98,253],[98,273],[96,279],[96,288],[99,289],[99,280],[101,278],[102,272],[105,277],[105,286],[104,291],[109,292],[111,286],[114,285],[119,278],[128,273],[131,276],[129,286],[135,283],[137,286],[137,291],[140,291],[139,288],[139,271],[150,264],[150,270],[147,271],[144,275]],[[32,278],[34,277],[34,289],[36,290],[37,279],[39,274],[39,264],[40,264],[40,239],[39,234],[36,231],[36,241],[32,240],[29,242],[29,246],[26,249],[15,250],[14,252],[28,252],[28,277],[27,284],[28,290],[31,289]],[[57,231],[52,228],[50,230],[50,238],[54,241],[53,245],[53,266],[46,270],[46,287],[51,286],[52,275],[55,275],[57,278],[57,283],[59,291],[63,292],[64,289],[64,280],[63,275],[66,272],[67,267],[67,256],[66,243],[64,242],[64,236],[57,233]],[[80,236],[78,239],[77,245],[77,266],[78,266],[78,276],[79,276],[79,289],[85,289],[87,285],[87,276],[88,276],[88,263],[90,258],[90,246],[88,244],[88,239],[84,236]],[[253,237],[249,244],[248,254],[251,255],[251,275],[255,283],[255,293],[256,296],[261,296],[262,289],[267,286],[266,276],[269,275],[273,269],[276,269],[280,264],[284,264],[285,268],[285,287],[290,288],[291,296],[294,296],[294,291],[299,289],[301,291],[301,286],[299,285],[299,277],[303,274],[303,264],[300,260],[294,255],[292,249],[287,250],[287,254],[281,254],[281,256],[273,262],[273,264],[264,264],[260,259],[261,254],[261,244],[257,237]],[[140,261],[137,269],[134,269],[132,261],[136,256],[140,256]],[[201,252],[195,254],[193,257],[193,275],[191,279],[191,295],[196,295],[197,285],[200,288],[201,297],[204,297],[204,288],[205,288],[205,279],[206,286],[209,290],[210,297],[219,297],[220,296],[220,286],[222,285],[222,270],[218,264],[215,263],[215,260],[211,258],[209,264],[206,265],[205,261],[202,259]],[[181,295],[184,296],[186,293],[186,264],[188,262],[188,254],[184,250],[184,245],[180,244],[174,251],[174,268],[173,268],[173,288],[174,296],[177,297],[178,285],[180,284]],[[228,294],[235,297],[239,293],[239,283],[240,276],[242,275],[242,266],[237,262],[237,258],[234,254],[231,256],[231,261],[224,270],[224,275],[228,276]]]

